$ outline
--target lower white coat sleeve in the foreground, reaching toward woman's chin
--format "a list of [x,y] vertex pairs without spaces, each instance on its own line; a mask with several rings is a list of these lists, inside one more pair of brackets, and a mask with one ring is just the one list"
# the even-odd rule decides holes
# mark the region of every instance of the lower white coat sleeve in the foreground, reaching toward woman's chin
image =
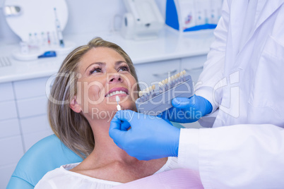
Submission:
[[182,166],[199,170],[204,188],[284,188],[284,129],[184,128],[178,159]]

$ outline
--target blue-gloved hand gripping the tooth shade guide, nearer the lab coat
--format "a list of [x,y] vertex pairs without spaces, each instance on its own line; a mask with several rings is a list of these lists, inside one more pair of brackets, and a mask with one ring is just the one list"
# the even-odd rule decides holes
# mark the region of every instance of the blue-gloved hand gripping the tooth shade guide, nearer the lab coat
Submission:
[[195,94],[190,98],[177,97],[172,99],[172,106],[158,116],[173,122],[192,123],[212,111],[211,103]]

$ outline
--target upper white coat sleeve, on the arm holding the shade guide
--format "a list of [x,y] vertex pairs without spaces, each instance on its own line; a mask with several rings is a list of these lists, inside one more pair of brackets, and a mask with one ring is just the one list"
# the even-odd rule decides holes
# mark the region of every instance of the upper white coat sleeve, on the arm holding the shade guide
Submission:
[[[213,89],[223,79],[225,65],[225,49],[227,42],[228,23],[230,19],[230,8],[227,1],[224,1],[222,8],[222,16],[215,28],[215,40],[211,44],[211,49],[207,56],[207,61],[204,63],[203,71],[199,76],[199,81],[196,83],[196,95],[204,97],[211,102],[213,111],[218,109],[218,104],[221,101],[222,90],[216,91],[213,98]],[[213,112],[212,111],[212,112]]]

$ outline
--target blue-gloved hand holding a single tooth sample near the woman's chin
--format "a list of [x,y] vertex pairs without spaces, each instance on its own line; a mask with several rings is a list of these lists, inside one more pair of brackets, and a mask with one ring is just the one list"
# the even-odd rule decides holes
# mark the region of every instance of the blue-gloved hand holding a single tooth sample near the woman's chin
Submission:
[[150,160],[177,157],[179,131],[162,118],[121,110],[112,119],[109,133],[115,144],[130,156]]

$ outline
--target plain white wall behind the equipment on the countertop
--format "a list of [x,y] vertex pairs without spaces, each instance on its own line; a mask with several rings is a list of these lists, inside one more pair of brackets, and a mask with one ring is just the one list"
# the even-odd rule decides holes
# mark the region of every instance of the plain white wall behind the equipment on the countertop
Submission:
[[[165,17],[166,0],[155,0]],[[0,0],[0,7],[4,0]],[[126,12],[123,0],[66,0],[69,8],[69,21],[63,35],[90,33],[112,30],[114,15],[123,15]],[[117,27],[120,26],[119,19]],[[2,10],[0,10],[0,42],[18,42],[20,39],[8,27]]]

